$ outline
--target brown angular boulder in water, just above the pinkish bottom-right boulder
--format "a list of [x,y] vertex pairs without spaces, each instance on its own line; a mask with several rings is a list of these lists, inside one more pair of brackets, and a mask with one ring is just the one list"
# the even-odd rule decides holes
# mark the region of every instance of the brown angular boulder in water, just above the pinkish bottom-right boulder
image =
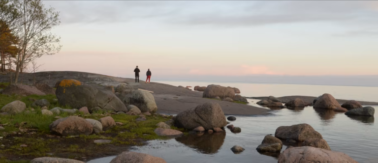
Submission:
[[274,134],[280,139],[294,139],[296,141],[305,141],[309,138],[323,138],[318,132],[310,125],[303,123],[292,126],[281,126],[276,129]]

